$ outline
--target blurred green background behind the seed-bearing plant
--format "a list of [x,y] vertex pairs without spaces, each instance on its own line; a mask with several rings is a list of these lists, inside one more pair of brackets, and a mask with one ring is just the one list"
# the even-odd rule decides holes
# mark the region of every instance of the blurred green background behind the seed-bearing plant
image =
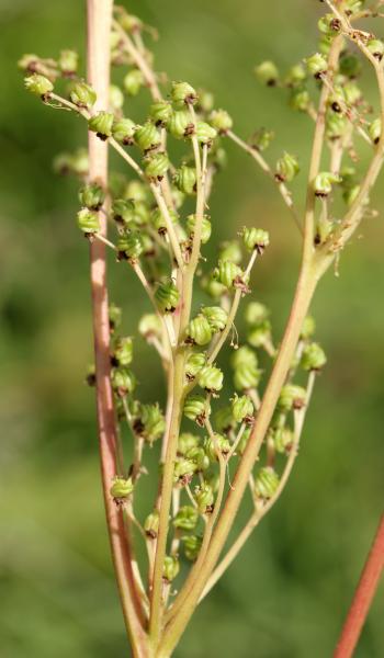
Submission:
[[[83,49],[84,3],[1,0],[1,484],[0,655],[3,658],[127,656],[99,485],[87,249],[75,226],[77,188],[52,170],[57,151],[84,144],[80,122],[23,90],[22,53]],[[313,127],[252,67],[282,67],[316,49],[318,3],[192,0],[129,2],[159,29],[157,67],[212,89],[241,136],[261,125],[308,160]],[[371,91],[368,90],[370,93]],[[228,148],[211,209],[216,239],[244,224],[269,228],[272,246],[253,290],[287,315],[300,242],[270,181]],[[303,183],[296,186],[303,203]],[[329,364],[318,381],[294,476],[240,559],[195,614],[179,658],[325,658],[362,567],[383,503],[383,204],[317,294],[314,313]],[[146,300],[125,270],[113,298],[135,331]],[[131,297],[129,297],[131,295]],[[134,304],[132,299],[134,298]],[[241,325],[241,324],[240,324]],[[136,341],[143,398],[161,386]],[[148,377],[146,375],[149,375]],[[384,655],[381,587],[358,658]]]

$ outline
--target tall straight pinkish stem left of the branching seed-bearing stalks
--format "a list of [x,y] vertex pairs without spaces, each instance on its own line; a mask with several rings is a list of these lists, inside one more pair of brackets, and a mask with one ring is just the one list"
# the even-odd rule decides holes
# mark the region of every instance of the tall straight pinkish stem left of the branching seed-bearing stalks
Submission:
[[[110,33],[112,0],[88,0],[88,81],[98,94],[97,110],[105,110],[110,86]],[[108,184],[108,143],[89,133],[89,180]],[[106,219],[100,213],[101,232],[106,235]],[[105,245],[94,240],[90,246],[92,316],[97,375],[97,405],[101,473],[105,502],[106,522],[112,557],[121,594],[124,620],[131,635],[134,655],[135,645],[145,643],[143,610],[132,570],[132,552],[126,535],[122,510],[114,503],[110,488],[116,475],[117,433],[113,408],[110,360],[110,321],[106,282]]]

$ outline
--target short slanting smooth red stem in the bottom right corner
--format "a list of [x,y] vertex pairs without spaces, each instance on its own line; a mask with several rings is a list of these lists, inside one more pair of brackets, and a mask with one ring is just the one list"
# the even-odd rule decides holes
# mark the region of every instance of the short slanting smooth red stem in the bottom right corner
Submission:
[[350,658],[370,611],[373,597],[384,567],[384,515],[381,519],[376,536],[368,556],[359,585],[349,609],[334,658]]

